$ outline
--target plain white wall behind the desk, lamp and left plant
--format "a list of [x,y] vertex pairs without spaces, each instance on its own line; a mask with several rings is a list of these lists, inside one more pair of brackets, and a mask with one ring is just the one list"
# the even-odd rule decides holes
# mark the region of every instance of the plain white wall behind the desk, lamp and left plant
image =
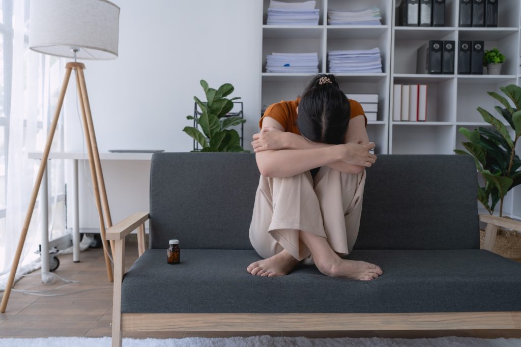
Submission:
[[[201,79],[213,88],[225,82],[234,85],[231,96],[242,97],[247,119],[244,147],[251,149],[260,112],[262,2],[114,2],[121,8],[119,57],[84,61],[100,152],[116,148],[190,151],[192,140],[181,130],[192,125],[186,116],[193,113],[193,96],[204,98]],[[75,84],[70,86],[65,146],[69,151],[82,151]],[[149,165],[103,163],[113,221],[148,208]],[[82,172],[80,164],[80,182],[85,178]],[[88,166],[86,173],[89,175]],[[80,195],[80,227],[96,228],[97,215],[84,182]]]

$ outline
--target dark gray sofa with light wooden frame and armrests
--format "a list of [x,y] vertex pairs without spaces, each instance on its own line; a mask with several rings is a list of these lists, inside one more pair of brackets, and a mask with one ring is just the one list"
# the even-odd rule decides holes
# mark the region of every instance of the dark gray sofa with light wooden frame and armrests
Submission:
[[[521,264],[480,249],[472,157],[379,155],[366,170],[346,258],[383,275],[333,278],[299,264],[287,276],[259,277],[246,271],[261,259],[248,234],[255,154],[154,154],[150,212],[107,230],[113,346],[122,331],[520,329]],[[491,249],[501,221],[482,219]],[[139,258],[125,271],[125,237],[135,229]],[[179,240],[180,264],[167,264],[170,239]]]

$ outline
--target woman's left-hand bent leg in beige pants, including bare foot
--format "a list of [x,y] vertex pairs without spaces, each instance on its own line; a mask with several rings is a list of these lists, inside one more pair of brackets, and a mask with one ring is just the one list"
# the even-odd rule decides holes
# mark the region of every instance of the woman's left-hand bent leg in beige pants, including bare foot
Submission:
[[255,196],[250,241],[265,258],[247,267],[253,275],[286,275],[311,255],[299,230],[325,236],[320,207],[309,171],[288,178],[261,176]]

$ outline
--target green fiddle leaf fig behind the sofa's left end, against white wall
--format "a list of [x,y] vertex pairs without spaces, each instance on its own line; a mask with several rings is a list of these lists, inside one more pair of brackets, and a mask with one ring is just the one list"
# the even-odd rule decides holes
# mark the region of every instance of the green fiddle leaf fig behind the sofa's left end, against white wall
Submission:
[[226,97],[233,92],[233,85],[225,83],[219,89],[213,89],[209,88],[205,80],[201,80],[201,86],[206,102],[194,96],[201,109],[201,116],[187,116],[187,119],[195,120],[203,132],[195,127],[184,127],[183,131],[201,145],[201,152],[249,152],[241,146],[237,130],[229,129],[246,121],[241,116],[227,116],[233,108],[233,100],[240,99]]

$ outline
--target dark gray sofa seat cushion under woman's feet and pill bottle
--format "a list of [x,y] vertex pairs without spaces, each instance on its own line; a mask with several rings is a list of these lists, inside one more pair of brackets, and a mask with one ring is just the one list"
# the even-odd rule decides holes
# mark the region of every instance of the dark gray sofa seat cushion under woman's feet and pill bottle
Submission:
[[354,250],[379,265],[372,281],[332,278],[314,265],[259,277],[254,250],[147,250],[121,290],[122,313],[403,313],[521,311],[521,264],[485,250]]

